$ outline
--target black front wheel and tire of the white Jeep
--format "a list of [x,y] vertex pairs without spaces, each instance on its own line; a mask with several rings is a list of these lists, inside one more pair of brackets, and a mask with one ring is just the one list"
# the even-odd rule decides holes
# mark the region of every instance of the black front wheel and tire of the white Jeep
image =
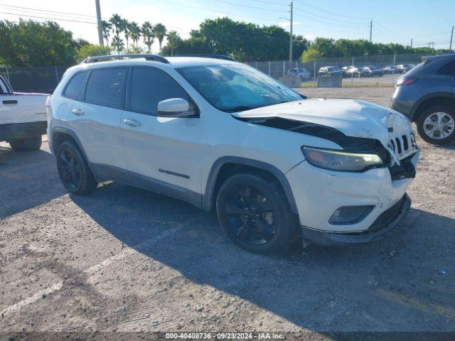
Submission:
[[277,183],[253,174],[233,175],[218,191],[216,210],[238,247],[257,254],[289,250],[296,222]]

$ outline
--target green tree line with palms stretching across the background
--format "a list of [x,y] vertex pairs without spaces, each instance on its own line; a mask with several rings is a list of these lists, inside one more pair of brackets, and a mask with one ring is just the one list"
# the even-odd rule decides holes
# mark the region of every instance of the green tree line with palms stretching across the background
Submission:
[[[151,53],[155,40],[159,43],[161,55],[221,54],[240,61],[289,58],[289,32],[284,28],[259,26],[228,17],[206,19],[197,30],[190,32],[188,38],[183,39],[176,31],[168,31],[162,23],[146,21],[139,24],[116,13],[109,20],[102,21],[102,33],[105,46],[74,39],[73,33],[53,21],[0,21],[0,65],[68,66],[90,55]],[[293,37],[293,59],[303,61],[436,52],[432,48],[410,48],[395,43],[370,43],[368,40],[316,38],[310,41],[302,36]]]

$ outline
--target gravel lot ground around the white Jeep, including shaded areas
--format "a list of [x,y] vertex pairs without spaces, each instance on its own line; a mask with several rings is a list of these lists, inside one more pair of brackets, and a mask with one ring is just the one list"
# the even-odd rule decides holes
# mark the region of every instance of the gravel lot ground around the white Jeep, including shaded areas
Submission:
[[[301,90],[385,105],[392,91]],[[116,183],[68,195],[47,144],[2,143],[0,332],[455,331],[455,146],[419,144],[412,210],[384,240],[272,257],[178,200]]]

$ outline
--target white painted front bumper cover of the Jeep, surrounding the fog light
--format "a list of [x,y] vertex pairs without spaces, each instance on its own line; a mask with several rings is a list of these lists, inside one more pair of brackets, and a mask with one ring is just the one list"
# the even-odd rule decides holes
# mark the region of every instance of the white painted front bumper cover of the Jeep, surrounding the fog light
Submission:
[[[419,149],[410,162],[417,168]],[[365,232],[391,207],[400,202],[412,182],[412,175],[396,177],[388,168],[363,173],[328,171],[303,161],[286,173],[299,214],[299,223],[319,232],[344,234]],[[374,206],[362,220],[352,224],[331,224],[331,216],[343,206]]]

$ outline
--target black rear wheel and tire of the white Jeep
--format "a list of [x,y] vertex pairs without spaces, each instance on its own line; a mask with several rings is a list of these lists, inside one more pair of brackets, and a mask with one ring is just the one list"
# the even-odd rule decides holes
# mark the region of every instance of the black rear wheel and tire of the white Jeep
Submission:
[[82,195],[95,190],[97,181],[79,148],[73,142],[65,141],[60,144],[55,156],[58,176],[68,191]]

